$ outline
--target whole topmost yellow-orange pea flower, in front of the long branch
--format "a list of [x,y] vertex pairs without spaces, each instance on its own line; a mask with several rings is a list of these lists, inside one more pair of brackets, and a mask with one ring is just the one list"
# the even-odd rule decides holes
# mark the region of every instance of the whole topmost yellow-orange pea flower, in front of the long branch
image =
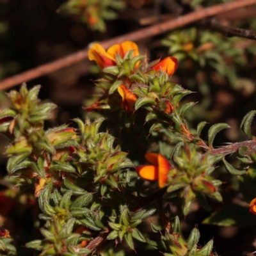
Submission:
[[[116,54],[120,54],[124,58],[125,54],[133,50],[133,56],[138,56],[138,45],[131,41],[122,42],[122,44],[115,44],[109,47],[108,51],[100,44],[93,44],[92,48],[88,51],[89,60],[94,60],[100,68],[106,68],[116,65]],[[139,63],[136,63],[138,67]]]

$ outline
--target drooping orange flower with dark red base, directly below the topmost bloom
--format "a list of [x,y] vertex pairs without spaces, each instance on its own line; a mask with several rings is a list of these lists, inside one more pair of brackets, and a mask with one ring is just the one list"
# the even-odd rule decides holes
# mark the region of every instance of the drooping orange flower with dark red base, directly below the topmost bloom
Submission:
[[138,97],[124,84],[120,84],[117,90],[122,97],[122,108],[124,108],[128,113],[132,113],[135,110],[133,108],[133,104],[136,102]]

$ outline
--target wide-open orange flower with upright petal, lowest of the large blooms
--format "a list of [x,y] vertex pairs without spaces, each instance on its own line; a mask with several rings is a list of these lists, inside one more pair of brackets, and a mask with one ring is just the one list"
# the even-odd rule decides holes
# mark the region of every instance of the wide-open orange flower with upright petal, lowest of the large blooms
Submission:
[[138,175],[145,180],[158,180],[159,188],[163,188],[168,180],[168,172],[171,168],[168,160],[161,154],[147,153],[145,157],[153,165],[141,165],[136,168]]

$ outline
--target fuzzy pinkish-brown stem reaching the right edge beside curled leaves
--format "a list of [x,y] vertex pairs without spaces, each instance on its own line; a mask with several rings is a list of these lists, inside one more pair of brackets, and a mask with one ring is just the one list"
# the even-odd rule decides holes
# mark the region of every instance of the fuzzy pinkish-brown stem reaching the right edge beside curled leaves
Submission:
[[228,155],[233,154],[239,150],[241,147],[248,147],[248,152],[252,152],[256,150],[256,141],[254,140],[247,140],[237,143],[231,143],[230,145],[220,147],[220,148],[214,148],[210,150],[211,155]]

